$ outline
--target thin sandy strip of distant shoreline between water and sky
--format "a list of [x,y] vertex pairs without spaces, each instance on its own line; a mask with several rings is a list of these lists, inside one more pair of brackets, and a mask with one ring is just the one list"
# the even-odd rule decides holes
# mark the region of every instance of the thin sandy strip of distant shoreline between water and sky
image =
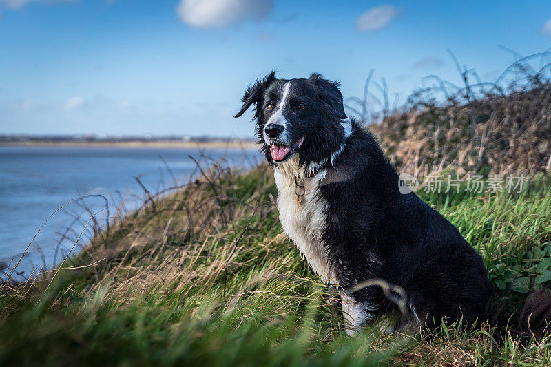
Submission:
[[243,141],[3,141],[0,147],[94,147],[94,148],[199,148],[252,149],[258,147],[251,140]]

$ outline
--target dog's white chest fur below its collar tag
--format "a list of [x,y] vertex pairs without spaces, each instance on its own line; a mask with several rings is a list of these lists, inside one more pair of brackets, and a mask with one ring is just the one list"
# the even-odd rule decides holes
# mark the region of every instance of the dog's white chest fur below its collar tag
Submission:
[[333,269],[329,265],[324,246],[327,202],[320,196],[318,183],[323,172],[304,180],[304,196],[300,205],[295,193],[295,178],[304,178],[304,171],[298,169],[298,159],[291,158],[274,169],[275,185],[278,187],[278,209],[283,230],[306,258],[313,271],[324,282],[337,284]]

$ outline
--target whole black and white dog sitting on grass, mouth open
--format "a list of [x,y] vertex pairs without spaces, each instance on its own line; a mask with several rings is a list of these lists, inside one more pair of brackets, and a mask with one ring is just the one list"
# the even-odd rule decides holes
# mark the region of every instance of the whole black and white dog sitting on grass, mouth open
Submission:
[[282,227],[313,271],[342,290],[346,333],[391,320],[382,289],[346,292],[380,279],[408,295],[408,317],[387,331],[486,319],[492,287],[480,256],[399,176],[375,138],[344,113],[339,83],[272,72],[245,91],[258,143],[273,167]]

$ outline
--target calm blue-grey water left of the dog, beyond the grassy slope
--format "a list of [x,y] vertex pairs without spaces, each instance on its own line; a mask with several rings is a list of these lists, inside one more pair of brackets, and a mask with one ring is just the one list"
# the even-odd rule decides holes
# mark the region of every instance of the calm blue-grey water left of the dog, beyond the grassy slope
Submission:
[[[1,267],[17,262],[43,223],[67,202],[101,194],[110,200],[110,205],[123,198],[127,207],[133,209],[143,198],[143,190],[134,177],[152,192],[174,186],[174,178],[178,184],[187,182],[196,171],[196,163],[189,156],[199,160],[203,168],[220,158],[236,168],[259,162],[256,149],[0,147]],[[30,252],[17,267],[17,271],[24,272],[19,279],[35,268],[52,268],[54,261],[63,260],[67,245],[84,227],[82,222],[72,223],[74,218],[90,218],[79,203],[82,201],[70,202],[45,222]],[[86,198],[85,204],[98,210],[104,206],[103,199],[96,197]],[[105,217],[105,211],[96,216],[103,222]],[[71,224],[73,231],[67,230]],[[63,233],[67,240],[58,246]],[[85,231],[79,243],[84,245],[87,235]]]

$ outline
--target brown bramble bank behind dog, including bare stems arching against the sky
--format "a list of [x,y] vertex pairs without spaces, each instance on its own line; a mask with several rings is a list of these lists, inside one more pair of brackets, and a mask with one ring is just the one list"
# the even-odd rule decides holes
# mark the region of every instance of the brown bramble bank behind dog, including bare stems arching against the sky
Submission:
[[517,54],[494,81],[482,81],[450,56],[462,85],[427,76],[426,87],[392,109],[386,82],[371,81],[372,72],[364,96],[347,98],[346,105],[364,123],[380,122],[371,129],[402,171],[550,174],[551,53]]

